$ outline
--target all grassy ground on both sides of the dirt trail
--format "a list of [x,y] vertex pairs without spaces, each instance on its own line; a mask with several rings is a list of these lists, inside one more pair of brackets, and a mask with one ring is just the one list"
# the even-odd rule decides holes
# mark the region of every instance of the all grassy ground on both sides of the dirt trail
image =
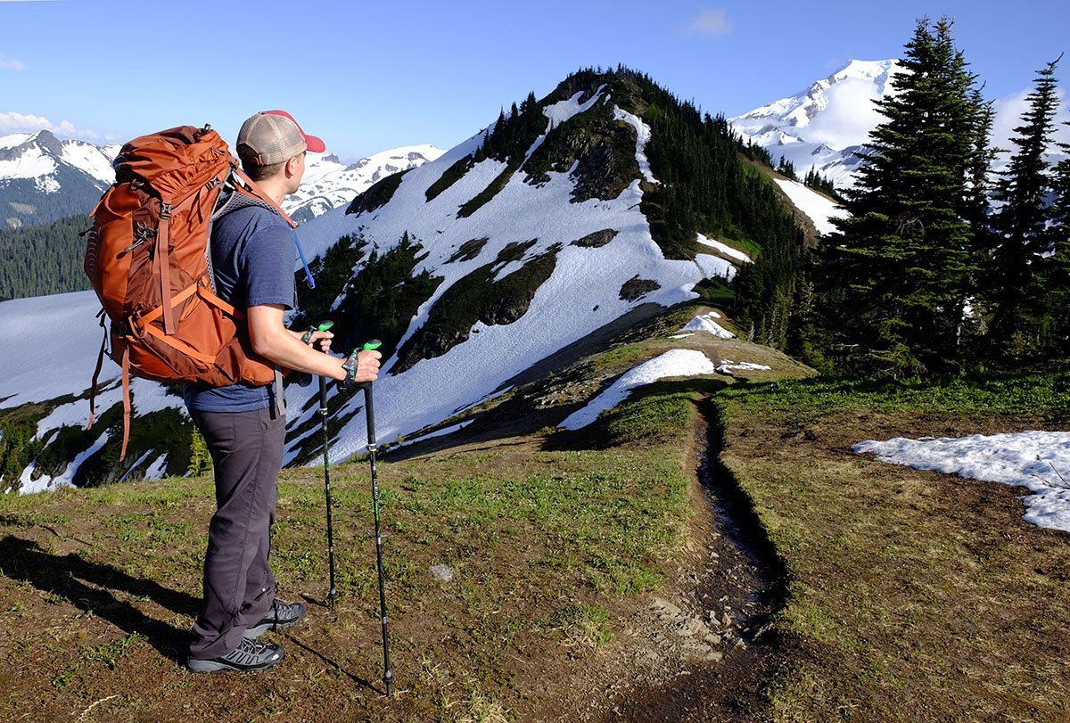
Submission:
[[[546,709],[588,665],[605,663],[618,647],[611,639],[627,640],[623,626],[644,604],[638,591],[662,595],[676,580],[677,556],[692,541],[693,401],[717,383],[655,385],[572,435],[513,425],[551,424],[614,374],[679,343],[715,360],[800,373],[746,342],[664,336],[693,312],[677,310],[653,338],[626,337],[495,400],[483,436],[381,464],[401,691],[392,702],[376,693],[366,464],[332,474],[343,593],[335,612],[316,602],[326,591],[321,475],[284,474],[274,565],[280,593],[305,597],[311,614],[281,637],[284,665],[253,677],[181,667],[210,481],[0,497],[0,619],[9,633],[0,640],[0,717],[496,721]],[[716,394],[722,460],[791,575],[776,620],[776,675],[755,719],[1070,712],[1068,536],[1025,524],[1011,488],[849,450],[897,434],[1053,427],[1067,410],[1054,388],[1051,376],[1020,376],[937,388],[785,381]],[[455,582],[431,576],[440,563],[454,568]]]

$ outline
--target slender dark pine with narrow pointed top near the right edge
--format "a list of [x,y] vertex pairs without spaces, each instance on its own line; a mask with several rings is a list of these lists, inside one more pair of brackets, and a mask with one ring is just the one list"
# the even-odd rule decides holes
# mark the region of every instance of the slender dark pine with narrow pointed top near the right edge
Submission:
[[1044,153],[1055,133],[1055,67],[1061,56],[1037,72],[1026,96],[1028,109],[1014,128],[1010,164],[996,183],[993,201],[995,248],[988,274],[992,321],[989,344],[993,355],[1008,359],[1033,356],[1043,345],[1050,316],[1038,303],[1037,270],[1050,246],[1048,196],[1052,178]]

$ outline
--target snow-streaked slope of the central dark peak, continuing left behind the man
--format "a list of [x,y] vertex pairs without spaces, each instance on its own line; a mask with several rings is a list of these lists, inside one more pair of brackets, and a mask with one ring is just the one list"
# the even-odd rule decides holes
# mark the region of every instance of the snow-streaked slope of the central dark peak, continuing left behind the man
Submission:
[[[750,263],[707,228],[681,228],[690,236],[687,246],[667,245],[658,230],[667,226],[657,216],[664,205],[644,199],[657,199],[669,182],[658,178],[655,163],[663,156],[647,157],[657,126],[640,113],[646,104],[675,103],[671,98],[638,73],[583,71],[441,157],[386,176],[348,206],[299,227],[318,280],[315,289],[299,290],[302,310],[335,321],[339,351],[371,336],[385,342],[376,385],[381,444],[433,434],[506,391],[538,362],[599,339],[622,318],[694,298],[700,282],[723,281]],[[698,137],[697,113],[666,109],[693,123]],[[662,141],[659,153],[678,147]],[[728,144],[724,161],[740,163],[737,156]],[[796,185],[797,196],[820,199]],[[761,196],[788,213],[779,209],[784,196],[771,183],[766,190],[746,187],[749,198]],[[813,203],[799,207],[824,213]],[[737,233],[747,236],[740,224]],[[116,466],[122,389],[110,362],[102,373],[98,421],[83,430],[100,349],[97,309],[92,292],[0,304],[0,344],[12,350],[0,375],[0,427],[4,439],[26,441],[12,447],[26,457],[14,465],[18,472],[0,479],[0,491],[185,472],[189,445],[182,430],[189,422],[181,397],[138,379],[128,457]],[[40,328],[64,329],[62,349],[22,343]],[[317,395],[316,385],[287,389],[287,464],[318,451]],[[32,413],[5,416],[30,403],[36,403]],[[365,447],[363,403],[354,395],[332,404],[333,461]],[[7,432],[5,419],[18,427]]]

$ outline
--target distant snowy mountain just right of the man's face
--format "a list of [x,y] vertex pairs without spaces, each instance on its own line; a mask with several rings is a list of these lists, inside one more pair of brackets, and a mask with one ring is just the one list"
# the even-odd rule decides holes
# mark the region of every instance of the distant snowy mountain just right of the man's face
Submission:
[[305,178],[296,194],[282,207],[296,221],[307,221],[332,209],[348,204],[369,186],[400,171],[434,160],[442,149],[426,143],[383,151],[346,166],[333,154],[309,154]]

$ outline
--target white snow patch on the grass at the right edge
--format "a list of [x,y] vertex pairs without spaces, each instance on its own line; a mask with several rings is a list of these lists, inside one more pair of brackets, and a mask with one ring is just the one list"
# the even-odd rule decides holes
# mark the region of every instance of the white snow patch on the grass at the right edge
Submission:
[[1070,532],[1070,432],[867,440],[852,449],[915,470],[1024,487],[1031,493],[1022,497],[1026,522]]

